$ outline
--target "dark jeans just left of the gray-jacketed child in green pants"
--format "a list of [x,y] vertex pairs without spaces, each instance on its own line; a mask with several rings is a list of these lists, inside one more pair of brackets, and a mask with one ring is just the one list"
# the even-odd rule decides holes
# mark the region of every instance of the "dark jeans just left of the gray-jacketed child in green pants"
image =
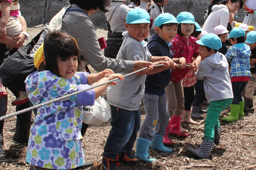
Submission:
[[193,101],[193,106],[201,106],[204,101],[205,94],[204,94],[204,80],[196,80],[195,87],[195,98]]

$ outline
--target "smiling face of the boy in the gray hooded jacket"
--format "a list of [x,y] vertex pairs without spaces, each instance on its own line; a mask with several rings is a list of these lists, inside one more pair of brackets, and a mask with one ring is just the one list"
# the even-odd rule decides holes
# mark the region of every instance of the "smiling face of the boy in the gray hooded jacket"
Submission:
[[125,28],[129,35],[137,41],[142,41],[148,37],[149,23],[125,23]]

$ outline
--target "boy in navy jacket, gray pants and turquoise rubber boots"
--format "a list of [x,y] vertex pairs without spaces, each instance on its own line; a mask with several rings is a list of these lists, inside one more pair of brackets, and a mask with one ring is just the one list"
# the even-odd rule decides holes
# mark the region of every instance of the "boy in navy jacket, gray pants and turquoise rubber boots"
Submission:
[[[164,13],[157,16],[155,20],[155,31],[148,41],[148,50],[154,56],[169,56],[173,58],[172,46],[169,41],[177,35],[178,22],[170,13]],[[173,60],[179,62],[178,58]],[[182,63],[185,65],[186,63]],[[172,68],[172,69],[175,69]],[[146,117],[141,125],[139,138],[137,139],[137,148],[135,158],[141,158],[145,162],[152,162],[156,159],[148,158],[148,148],[143,148],[142,143],[151,143],[151,148],[163,153],[171,153],[172,149],[166,148],[163,144],[173,145],[173,142],[167,138],[165,129],[170,119],[167,109],[167,98],[164,88],[169,84],[172,70],[167,69],[157,74],[147,75],[145,81],[145,95],[143,105]],[[153,133],[153,129],[154,133]]]

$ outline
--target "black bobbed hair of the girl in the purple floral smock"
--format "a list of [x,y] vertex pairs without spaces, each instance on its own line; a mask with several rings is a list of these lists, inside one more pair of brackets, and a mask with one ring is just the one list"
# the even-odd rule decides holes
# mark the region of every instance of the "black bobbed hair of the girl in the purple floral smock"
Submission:
[[[45,70],[50,70],[59,75],[57,57],[69,58],[71,56],[77,56],[79,65],[79,49],[76,40],[72,36],[55,30],[47,33],[44,39]],[[42,71],[42,69],[40,70]]]

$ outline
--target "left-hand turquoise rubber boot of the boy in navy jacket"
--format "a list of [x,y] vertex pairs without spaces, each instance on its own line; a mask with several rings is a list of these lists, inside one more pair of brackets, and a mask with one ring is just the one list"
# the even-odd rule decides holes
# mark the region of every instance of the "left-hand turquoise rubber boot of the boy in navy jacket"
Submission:
[[[162,138],[163,142],[163,138]],[[150,147],[150,140],[144,138],[137,138],[136,151],[134,157],[137,159],[141,159],[145,162],[155,162],[156,159],[150,158],[148,155],[148,149]]]

